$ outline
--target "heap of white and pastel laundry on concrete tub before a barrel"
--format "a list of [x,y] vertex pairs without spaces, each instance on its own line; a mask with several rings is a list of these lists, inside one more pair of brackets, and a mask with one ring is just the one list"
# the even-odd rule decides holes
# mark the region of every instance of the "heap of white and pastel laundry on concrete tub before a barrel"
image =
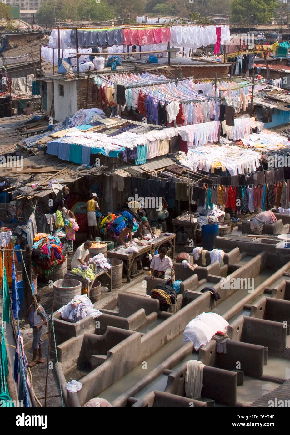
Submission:
[[75,296],[67,305],[57,310],[61,313],[63,320],[69,320],[72,323],[91,315],[94,319],[98,318],[102,312],[94,308],[86,294]]

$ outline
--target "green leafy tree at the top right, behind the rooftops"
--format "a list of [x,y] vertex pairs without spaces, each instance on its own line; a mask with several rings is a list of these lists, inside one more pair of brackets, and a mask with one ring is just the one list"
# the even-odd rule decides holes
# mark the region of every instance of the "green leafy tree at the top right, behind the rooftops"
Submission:
[[270,23],[278,7],[277,0],[232,0],[231,2],[231,22],[253,24]]

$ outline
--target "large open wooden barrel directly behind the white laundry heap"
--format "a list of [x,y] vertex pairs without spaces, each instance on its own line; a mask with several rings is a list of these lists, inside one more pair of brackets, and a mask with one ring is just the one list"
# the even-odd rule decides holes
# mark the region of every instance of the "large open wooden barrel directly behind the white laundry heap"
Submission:
[[53,283],[53,311],[67,305],[75,296],[82,294],[82,283],[77,279],[59,279]]

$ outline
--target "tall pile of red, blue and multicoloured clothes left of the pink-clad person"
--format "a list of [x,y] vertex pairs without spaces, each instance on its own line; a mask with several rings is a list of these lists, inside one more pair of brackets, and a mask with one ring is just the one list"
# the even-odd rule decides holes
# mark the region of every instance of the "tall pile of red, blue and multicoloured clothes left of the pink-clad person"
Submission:
[[48,278],[54,268],[65,261],[63,245],[58,237],[50,234],[36,234],[32,250],[33,272]]

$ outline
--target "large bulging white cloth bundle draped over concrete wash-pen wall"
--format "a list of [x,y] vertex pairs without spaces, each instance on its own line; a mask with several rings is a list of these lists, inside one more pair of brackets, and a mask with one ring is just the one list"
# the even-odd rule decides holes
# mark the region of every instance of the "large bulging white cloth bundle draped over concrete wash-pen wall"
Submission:
[[218,331],[227,332],[228,325],[228,322],[216,313],[201,313],[186,325],[183,341],[185,343],[191,341],[197,351],[208,343]]

